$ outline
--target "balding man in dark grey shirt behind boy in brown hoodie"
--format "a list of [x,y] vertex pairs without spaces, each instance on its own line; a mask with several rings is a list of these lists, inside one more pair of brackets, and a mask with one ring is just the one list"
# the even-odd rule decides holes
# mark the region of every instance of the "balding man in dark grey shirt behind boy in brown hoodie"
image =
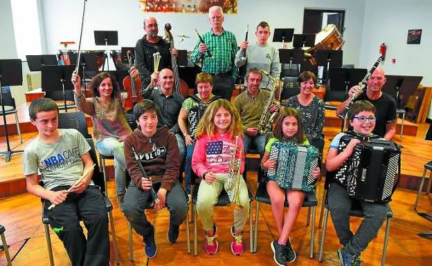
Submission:
[[[181,104],[183,103],[183,97],[179,93],[175,93],[174,90],[174,73],[168,68],[163,70],[155,71],[151,76],[149,86],[143,91],[143,98],[151,99],[159,108],[156,109],[158,116],[158,125],[160,128],[164,125],[168,126],[168,131],[174,133],[177,138],[177,144],[179,145],[179,158],[180,162],[183,162],[186,147],[181,135],[179,123],[179,113]],[[156,87],[156,80],[159,78],[159,88]]]

